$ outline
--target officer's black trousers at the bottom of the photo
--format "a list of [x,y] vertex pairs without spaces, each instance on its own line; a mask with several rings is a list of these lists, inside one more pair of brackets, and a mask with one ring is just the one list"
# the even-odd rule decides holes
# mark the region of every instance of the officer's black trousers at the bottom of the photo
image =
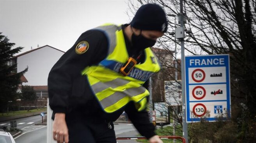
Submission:
[[96,115],[72,111],[66,113],[66,123],[69,143],[116,143],[113,122],[108,122]]

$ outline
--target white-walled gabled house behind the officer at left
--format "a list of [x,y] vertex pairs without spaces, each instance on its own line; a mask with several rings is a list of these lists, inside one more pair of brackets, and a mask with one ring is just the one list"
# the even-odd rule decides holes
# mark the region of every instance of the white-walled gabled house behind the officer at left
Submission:
[[28,67],[28,71],[24,74],[27,82],[23,82],[22,85],[40,86],[40,91],[37,91],[37,88],[34,90],[42,95],[42,91],[47,91],[47,79],[50,70],[64,53],[64,51],[45,45],[14,56],[11,63],[17,63],[16,72],[21,72]]

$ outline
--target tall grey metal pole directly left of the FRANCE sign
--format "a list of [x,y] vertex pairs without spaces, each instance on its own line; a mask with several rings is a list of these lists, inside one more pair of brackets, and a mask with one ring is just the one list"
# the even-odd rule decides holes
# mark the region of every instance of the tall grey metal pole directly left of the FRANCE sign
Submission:
[[[184,16],[183,16],[183,0],[180,0],[180,27],[184,28]],[[184,28],[185,29],[185,28]],[[183,30],[184,32],[184,30]],[[183,137],[188,143],[188,125],[186,121],[186,96],[185,96],[185,57],[184,57],[184,38],[181,41],[181,88],[182,88],[182,126]]]

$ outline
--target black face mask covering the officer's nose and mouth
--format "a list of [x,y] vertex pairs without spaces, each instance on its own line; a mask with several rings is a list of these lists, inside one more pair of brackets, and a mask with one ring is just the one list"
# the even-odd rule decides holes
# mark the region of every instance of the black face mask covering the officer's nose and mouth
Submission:
[[138,36],[135,35],[134,33],[132,33],[132,47],[133,47],[133,49],[137,49],[138,51],[144,50],[147,47],[152,47],[153,45],[155,45],[155,43],[156,43],[156,40],[151,40],[151,39],[148,39],[148,38],[144,37],[141,34],[141,31],[140,31],[140,35],[138,35]]

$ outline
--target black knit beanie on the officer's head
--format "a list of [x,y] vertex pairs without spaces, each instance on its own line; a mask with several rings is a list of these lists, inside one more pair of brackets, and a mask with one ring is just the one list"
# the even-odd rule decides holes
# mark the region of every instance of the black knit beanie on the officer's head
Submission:
[[153,3],[142,5],[130,24],[133,28],[140,30],[167,31],[165,12],[162,7]]

